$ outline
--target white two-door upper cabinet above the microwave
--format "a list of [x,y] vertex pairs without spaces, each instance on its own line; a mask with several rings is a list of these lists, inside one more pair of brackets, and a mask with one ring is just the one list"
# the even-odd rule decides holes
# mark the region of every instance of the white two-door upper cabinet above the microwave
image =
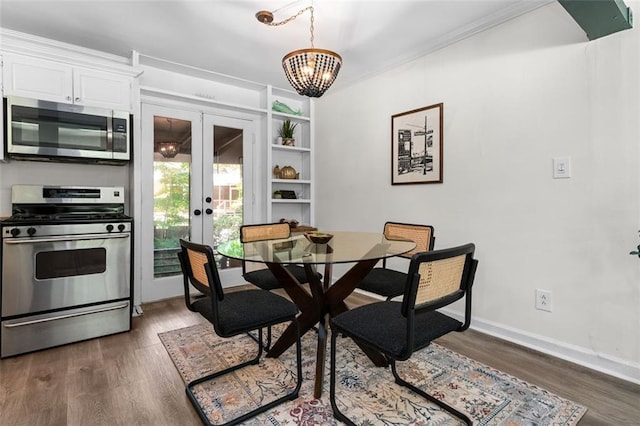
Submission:
[[131,111],[132,78],[21,55],[4,57],[5,96]]

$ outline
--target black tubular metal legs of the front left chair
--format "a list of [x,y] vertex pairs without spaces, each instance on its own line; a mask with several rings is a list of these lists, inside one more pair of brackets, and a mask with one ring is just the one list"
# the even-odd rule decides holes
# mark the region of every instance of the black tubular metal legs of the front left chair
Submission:
[[[294,400],[298,397],[298,393],[300,392],[300,387],[302,386],[302,341],[300,339],[299,336],[299,325],[298,325],[298,321],[297,319],[294,319],[293,321],[295,321],[296,324],[296,332],[298,335],[298,339],[296,341],[296,364],[297,364],[297,381],[296,381],[296,387],[293,389],[293,391],[287,393],[286,395],[269,402],[268,404],[262,405],[258,408],[256,408],[255,410],[252,410],[246,414],[243,414],[242,416],[236,417],[233,420],[228,421],[227,423],[223,423],[220,426],[230,426],[230,425],[236,425],[238,423],[242,423],[254,416],[257,416],[260,413],[263,413],[267,410],[270,410],[271,408],[275,407],[278,404],[281,404],[285,401],[291,401]],[[271,327],[268,328],[269,330],[271,330]],[[262,349],[263,349],[263,345],[262,345],[262,329],[258,330],[258,339],[256,340],[256,342],[258,342],[258,355],[246,362],[240,363],[238,365],[234,365],[232,367],[226,368],[222,371],[218,371],[212,374],[209,374],[207,376],[204,377],[200,377],[198,379],[195,379],[191,382],[189,382],[187,384],[186,387],[186,392],[187,392],[187,396],[189,397],[189,400],[191,401],[191,404],[194,406],[194,408],[196,409],[196,411],[198,412],[198,415],[200,416],[200,419],[202,420],[202,422],[205,425],[211,425],[212,423],[209,422],[209,419],[207,418],[206,413],[204,412],[204,410],[202,409],[202,407],[200,406],[200,403],[198,402],[198,400],[196,399],[194,393],[193,393],[193,387],[197,384],[206,382],[208,380],[214,379],[216,377],[220,377],[223,376],[225,374],[231,373],[232,371],[235,370],[239,370],[240,368],[246,367],[248,365],[251,364],[257,364],[260,361],[260,357],[262,356]]]

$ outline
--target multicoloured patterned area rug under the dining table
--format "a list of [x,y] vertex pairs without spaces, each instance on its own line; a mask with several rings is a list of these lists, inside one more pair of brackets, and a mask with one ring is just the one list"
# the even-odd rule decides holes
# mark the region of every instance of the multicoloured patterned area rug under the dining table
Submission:
[[[277,338],[282,328],[274,329]],[[209,324],[158,334],[185,382],[255,356],[246,335],[218,337]],[[303,385],[296,400],[261,414],[247,425],[338,425],[329,402],[329,354],[324,391],[313,398],[316,335],[303,338]],[[329,353],[329,345],[327,345]],[[394,383],[390,368],[374,367],[347,338],[338,338],[337,400],[359,425],[455,425],[461,422]],[[278,359],[197,385],[196,397],[214,424],[269,402],[295,387],[295,346]],[[398,363],[401,377],[467,413],[476,425],[575,425],[586,408],[516,377],[432,343]],[[186,401],[186,399],[185,399]]]

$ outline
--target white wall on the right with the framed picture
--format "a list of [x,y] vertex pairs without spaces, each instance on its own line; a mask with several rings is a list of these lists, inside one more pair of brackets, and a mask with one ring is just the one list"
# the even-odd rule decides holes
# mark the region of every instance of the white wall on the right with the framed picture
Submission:
[[[428,223],[436,248],[475,242],[472,326],[640,382],[639,75],[640,29],[588,42],[552,3],[329,90],[316,222]],[[391,115],[439,102],[444,183],[392,186]],[[571,179],[552,179],[556,156]],[[535,309],[536,288],[553,312]]]

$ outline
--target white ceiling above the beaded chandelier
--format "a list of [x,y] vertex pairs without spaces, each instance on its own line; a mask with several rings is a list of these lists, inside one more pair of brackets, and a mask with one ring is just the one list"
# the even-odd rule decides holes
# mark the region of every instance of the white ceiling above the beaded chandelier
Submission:
[[[430,53],[554,0],[316,0],[315,47],[336,51],[334,87]],[[311,4],[273,0],[0,0],[0,27],[119,56],[132,50],[276,87],[281,59],[310,46]],[[0,40],[1,41],[1,40]]]

